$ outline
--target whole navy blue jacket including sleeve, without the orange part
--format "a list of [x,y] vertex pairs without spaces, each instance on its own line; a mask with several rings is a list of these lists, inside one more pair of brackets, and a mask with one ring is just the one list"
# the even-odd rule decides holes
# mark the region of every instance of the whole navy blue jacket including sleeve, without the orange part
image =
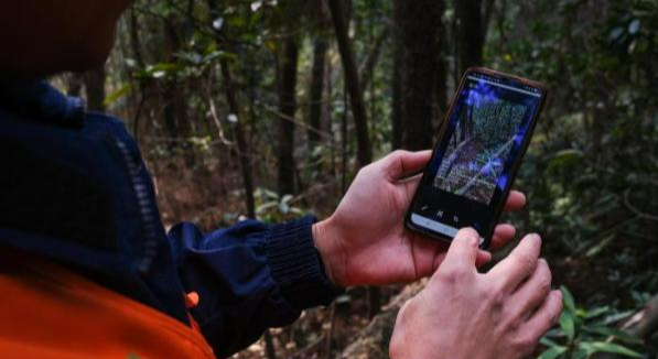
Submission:
[[51,258],[185,324],[183,293],[197,292],[191,313],[218,357],[337,293],[313,217],[165,233],[123,123],[45,81],[0,84],[0,250]]

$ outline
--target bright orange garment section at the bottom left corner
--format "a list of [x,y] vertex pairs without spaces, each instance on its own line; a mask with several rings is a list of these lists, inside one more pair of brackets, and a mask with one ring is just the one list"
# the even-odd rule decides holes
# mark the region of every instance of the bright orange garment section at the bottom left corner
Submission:
[[215,358],[194,322],[185,326],[51,261],[14,254],[0,252],[0,358]]

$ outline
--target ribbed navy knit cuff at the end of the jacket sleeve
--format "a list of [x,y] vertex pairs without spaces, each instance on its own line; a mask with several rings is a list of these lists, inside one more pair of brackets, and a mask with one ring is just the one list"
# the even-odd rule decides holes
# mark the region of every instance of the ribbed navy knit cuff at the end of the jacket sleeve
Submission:
[[343,290],[335,287],[324,271],[313,243],[314,217],[306,216],[270,227],[266,253],[272,276],[283,297],[296,309],[328,305]]

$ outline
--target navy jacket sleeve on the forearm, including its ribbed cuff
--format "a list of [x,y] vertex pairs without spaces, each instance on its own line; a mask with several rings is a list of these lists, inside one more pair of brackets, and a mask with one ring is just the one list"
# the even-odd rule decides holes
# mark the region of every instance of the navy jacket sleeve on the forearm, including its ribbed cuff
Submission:
[[171,229],[191,313],[219,358],[256,341],[269,327],[294,322],[301,311],[327,305],[339,293],[324,272],[304,217],[281,225],[245,220],[202,235],[191,224]]

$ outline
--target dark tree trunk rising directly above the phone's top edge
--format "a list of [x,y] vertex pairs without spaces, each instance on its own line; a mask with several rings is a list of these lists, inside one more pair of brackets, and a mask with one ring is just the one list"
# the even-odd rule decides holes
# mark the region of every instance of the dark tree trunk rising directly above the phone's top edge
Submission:
[[484,47],[484,24],[482,0],[455,0],[457,26],[459,63],[462,73],[468,67],[482,66]]

